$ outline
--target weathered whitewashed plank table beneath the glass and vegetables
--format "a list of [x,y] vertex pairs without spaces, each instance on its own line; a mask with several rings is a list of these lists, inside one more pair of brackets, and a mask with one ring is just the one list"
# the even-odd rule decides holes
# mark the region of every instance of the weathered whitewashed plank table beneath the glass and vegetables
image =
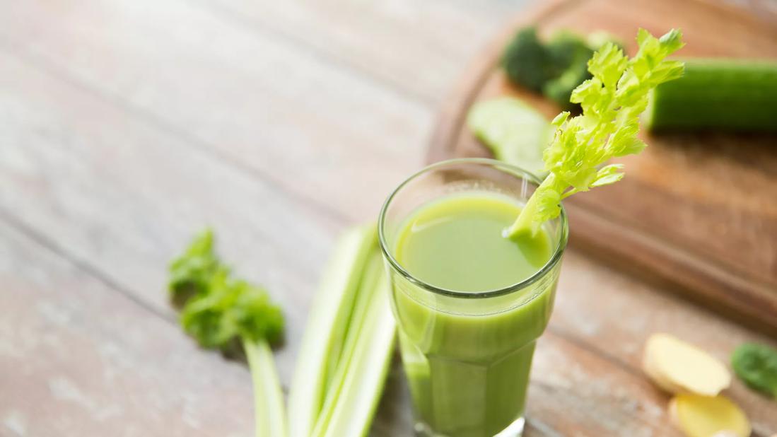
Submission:
[[[248,371],[179,330],[168,260],[214,226],[284,307],[287,383],[337,232],[421,165],[437,103],[518,9],[3,2],[0,435],[251,435]],[[574,248],[564,264],[527,435],[675,435],[639,370],[654,331],[723,360],[775,344]],[[755,435],[777,432],[777,404],[738,382],[729,395]],[[395,364],[372,434],[409,423]]]

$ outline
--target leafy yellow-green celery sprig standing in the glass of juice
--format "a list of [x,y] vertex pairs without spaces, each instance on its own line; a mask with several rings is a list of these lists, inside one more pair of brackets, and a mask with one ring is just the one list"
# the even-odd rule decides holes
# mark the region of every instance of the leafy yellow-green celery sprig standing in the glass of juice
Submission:
[[583,114],[559,114],[552,124],[556,135],[542,158],[548,177],[540,184],[506,229],[513,239],[535,234],[546,220],[560,214],[559,202],[591,187],[612,184],[623,177],[620,166],[599,168],[608,159],[639,153],[645,143],[636,138],[639,115],[647,96],[662,82],[678,79],[683,64],[665,58],[683,46],[679,30],[656,38],[646,30],[637,34],[639,51],[627,58],[615,44],[605,44],[588,61],[592,77],[572,93]]

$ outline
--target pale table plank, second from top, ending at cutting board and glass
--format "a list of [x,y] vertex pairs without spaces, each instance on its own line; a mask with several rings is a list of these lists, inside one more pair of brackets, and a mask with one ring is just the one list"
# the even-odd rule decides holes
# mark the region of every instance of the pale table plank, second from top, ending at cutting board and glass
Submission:
[[350,218],[375,217],[422,163],[427,107],[185,0],[13,2],[3,38],[190,147]]

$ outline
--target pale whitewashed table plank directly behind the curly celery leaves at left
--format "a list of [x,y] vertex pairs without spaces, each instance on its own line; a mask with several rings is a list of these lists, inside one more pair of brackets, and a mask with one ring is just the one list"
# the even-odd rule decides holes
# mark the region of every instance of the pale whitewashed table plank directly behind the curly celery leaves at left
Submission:
[[166,265],[212,225],[225,260],[284,307],[287,381],[340,225],[68,82],[0,59],[2,211],[168,316]]

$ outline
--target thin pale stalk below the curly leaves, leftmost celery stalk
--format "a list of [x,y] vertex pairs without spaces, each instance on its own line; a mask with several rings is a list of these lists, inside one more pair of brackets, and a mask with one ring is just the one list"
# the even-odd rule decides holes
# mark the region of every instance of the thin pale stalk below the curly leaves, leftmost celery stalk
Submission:
[[287,437],[284,395],[267,341],[243,339],[253,379],[254,420],[257,437]]

